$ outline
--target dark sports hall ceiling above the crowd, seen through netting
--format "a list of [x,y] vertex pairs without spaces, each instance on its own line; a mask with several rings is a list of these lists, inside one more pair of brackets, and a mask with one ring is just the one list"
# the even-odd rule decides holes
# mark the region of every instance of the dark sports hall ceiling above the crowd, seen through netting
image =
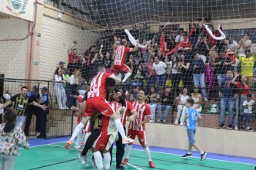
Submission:
[[[51,2],[53,0],[45,0]],[[70,11],[99,25],[131,25],[142,21],[195,21],[255,18],[255,0],[55,0]]]

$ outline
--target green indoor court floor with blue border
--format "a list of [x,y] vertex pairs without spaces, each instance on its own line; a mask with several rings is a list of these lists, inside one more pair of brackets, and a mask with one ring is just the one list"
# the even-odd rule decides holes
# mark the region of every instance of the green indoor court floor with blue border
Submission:
[[[78,151],[63,149],[68,138],[37,140],[31,139],[32,147],[28,151],[20,150],[15,170],[53,170],[53,169],[94,169],[92,166],[84,167],[78,159]],[[208,159],[199,162],[199,154],[194,152],[191,159],[181,159],[185,151],[179,149],[166,149],[151,147],[151,157],[156,168],[162,170],[250,170],[254,168],[255,160],[230,155],[209,153]],[[114,149],[115,153],[115,149]],[[113,154],[115,157],[115,154]],[[91,153],[89,153],[91,156]],[[130,162],[125,165],[127,169],[148,168],[147,158],[140,145],[134,145],[130,155]],[[30,163],[24,163],[30,162]],[[22,165],[22,166],[20,166]],[[111,165],[115,169],[115,159]]]

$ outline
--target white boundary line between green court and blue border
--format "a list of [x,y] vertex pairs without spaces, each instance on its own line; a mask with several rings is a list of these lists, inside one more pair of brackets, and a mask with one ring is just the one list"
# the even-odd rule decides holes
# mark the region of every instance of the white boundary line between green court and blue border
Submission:
[[[57,144],[57,143],[64,143],[64,142],[53,142],[53,143],[43,144],[43,145],[34,145],[34,146],[30,147],[30,148],[35,148],[35,147],[44,146],[44,145],[52,145],[52,144]],[[52,146],[59,146],[59,147],[62,147],[61,145],[52,145]],[[114,147],[115,147],[115,146],[114,146]],[[23,148],[21,148],[21,149],[23,149]],[[65,149],[64,146],[63,146],[63,149]],[[74,149],[74,150],[76,150],[76,149]],[[140,150],[140,149],[132,149],[132,150],[144,152],[143,150]],[[165,153],[165,152],[157,152],[157,151],[151,151],[151,152],[161,153],[161,154],[165,154],[165,155],[178,155],[178,154]],[[178,155],[178,156],[181,156],[181,155]],[[193,156],[192,158],[198,159],[199,157]],[[219,162],[239,163],[239,164],[244,164],[244,165],[254,165],[254,164],[250,164],[250,163],[225,161],[225,160],[220,160],[220,159],[209,159],[209,160],[219,161]],[[130,164],[130,165],[131,165],[131,164]],[[134,165],[131,165],[131,166],[134,166]],[[141,168],[138,168],[138,169],[141,169]]]

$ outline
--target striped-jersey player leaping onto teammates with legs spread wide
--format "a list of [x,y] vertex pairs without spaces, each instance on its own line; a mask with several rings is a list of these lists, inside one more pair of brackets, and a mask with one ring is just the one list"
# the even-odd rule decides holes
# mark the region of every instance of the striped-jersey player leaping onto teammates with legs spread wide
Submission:
[[[118,77],[113,74],[105,73],[104,64],[98,64],[98,74],[91,81],[91,87],[88,91],[88,99],[86,101],[86,109],[83,114],[83,118],[81,119],[81,123],[75,127],[75,130],[71,136],[71,139],[66,143],[65,149],[69,149],[71,143],[74,141],[75,137],[78,135],[80,130],[88,123],[88,120],[95,113],[100,112],[101,114],[110,117],[115,120],[115,125],[120,132],[121,137],[123,139],[123,143],[134,142],[132,139],[128,139],[125,136],[124,128],[121,124],[121,119],[115,113],[115,110],[111,108],[108,102],[105,100],[105,90],[106,90],[106,81],[108,78],[112,78],[115,81],[120,81]],[[115,85],[114,85],[115,86]]]

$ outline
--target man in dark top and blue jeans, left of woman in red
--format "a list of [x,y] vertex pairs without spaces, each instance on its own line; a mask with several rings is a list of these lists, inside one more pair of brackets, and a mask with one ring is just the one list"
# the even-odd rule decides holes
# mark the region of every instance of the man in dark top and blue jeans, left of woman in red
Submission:
[[233,111],[234,111],[234,84],[231,83],[233,79],[232,70],[227,70],[226,77],[221,80],[221,90],[219,96],[221,97],[221,116],[220,128],[225,126],[225,110],[228,106],[228,129],[232,129],[233,124]]

